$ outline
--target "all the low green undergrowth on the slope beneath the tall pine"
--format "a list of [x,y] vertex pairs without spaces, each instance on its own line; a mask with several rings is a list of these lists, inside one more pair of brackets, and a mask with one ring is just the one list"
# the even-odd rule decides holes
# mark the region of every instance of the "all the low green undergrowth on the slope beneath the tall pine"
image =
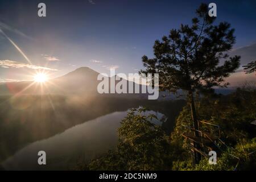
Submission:
[[176,126],[167,137],[160,126],[150,122],[155,115],[146,109],[131,110],[118,129],[119,143],[114,150],[92,160],[83,169],[90,170],[251,170],[256,168],[256,91],[238,89],[228,96],[199,97],[196,101],[200,119],[221,126],[222,146],[217,164],[210,165],[203,158],[195,166],[190,148],[181,136],[181,125],[191,123],[191,110],[184,106],[176,119]]

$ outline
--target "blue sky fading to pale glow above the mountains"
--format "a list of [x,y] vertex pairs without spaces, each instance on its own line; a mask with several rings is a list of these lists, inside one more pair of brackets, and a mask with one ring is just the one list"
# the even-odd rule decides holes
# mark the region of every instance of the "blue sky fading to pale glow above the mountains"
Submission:
[[[46,3],[46,18],[38,17],[39,2]],[[143,68],[143,55],[152,56],[156,39],[191,23],[201,2],[215,2],[216,22],[227,21],[236,29],[234,48],[256,42],[256,1],[0,1],[0,28],[32,65],[57,69],[52,77],[82,66],[100,73],[113,66],[117,72],[133,73]],[[0,60],[27,64],[2,34]],[[33,68],[0,67],[0,81],[33,74]]]

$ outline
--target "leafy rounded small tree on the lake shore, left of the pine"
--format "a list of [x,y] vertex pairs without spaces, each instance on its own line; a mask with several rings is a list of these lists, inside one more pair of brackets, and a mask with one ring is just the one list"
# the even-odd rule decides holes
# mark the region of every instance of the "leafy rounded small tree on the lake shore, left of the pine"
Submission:
[[[158,119],[146,114],[145,108],[131,109],[122,120],[119,134],[119,151],[129,155],[127,167],[135,170],[164,169],[170,144],[160,126],[151,122]],[[121,146],[124,146],[121,148]]]

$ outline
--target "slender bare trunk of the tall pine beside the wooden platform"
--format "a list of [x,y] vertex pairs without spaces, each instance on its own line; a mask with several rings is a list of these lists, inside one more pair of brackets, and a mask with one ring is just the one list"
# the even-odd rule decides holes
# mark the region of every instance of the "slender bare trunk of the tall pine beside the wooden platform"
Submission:
[[[195,102],[194,102],[194,96],[193,96],[193,92],[189,92],[189,97],[190,97],[190,107],[191,107],[191,117],[192,117],[192,121],[193,121],[193,129],[194,130],[199,130],[199,125],[198,125],[198,121],[197,121],[197,117],[196,117],[196,108],[195,108]],[[199,136],[199,131],[194,131],[194,135],[195,137],[200,137]],[[194,147],[197,148],[198,150],[200,150],[200,146],[199,144],[197,144],[196,142],[193,143]],[[195,163],[199,164],[200,160],[201,160],[201,155],[194,151],[195,154]]]

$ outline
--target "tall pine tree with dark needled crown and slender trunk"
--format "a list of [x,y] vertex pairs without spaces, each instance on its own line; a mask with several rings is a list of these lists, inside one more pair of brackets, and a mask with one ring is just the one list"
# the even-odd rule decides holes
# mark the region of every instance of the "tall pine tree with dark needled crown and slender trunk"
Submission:
[[[196,15],[191,26],[181,24],[178,30],[172,29],[170,35],[163,36],[162,41],[155,41],[155,57],[142,57],[146,69],[140,73],[159,73],[160,90],[186,90],[193,127],[198,130],[193,93],[228,85],[223,83],[224,78],[239,67],[240,56],[229,57],[226,53],[236,39],[229,23],[214,25],[215,18],[208,15],[208,6],[204,3],[196,10]],[[223,65],[220,65],[221,59],[225,60]],[[199,137],[199,133],[195,132],[195,136]],[[200,155],[195,155],[199,163]]]

